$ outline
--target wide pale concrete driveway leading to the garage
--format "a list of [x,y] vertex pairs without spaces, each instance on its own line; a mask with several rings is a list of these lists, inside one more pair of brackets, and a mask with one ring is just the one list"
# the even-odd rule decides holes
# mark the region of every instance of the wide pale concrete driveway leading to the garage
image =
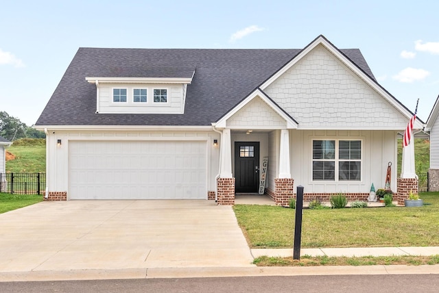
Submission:
[[42,202],[0,214],[0,272],[254,266],[213,201]]

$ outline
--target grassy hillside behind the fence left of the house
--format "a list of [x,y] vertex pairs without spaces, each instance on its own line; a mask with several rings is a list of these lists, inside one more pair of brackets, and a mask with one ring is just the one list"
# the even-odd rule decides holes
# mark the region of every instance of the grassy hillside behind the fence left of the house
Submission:
[[6,173],[45,173],[46,144],[43,139],[16,140],[6,149],[15,160],[6,162]]

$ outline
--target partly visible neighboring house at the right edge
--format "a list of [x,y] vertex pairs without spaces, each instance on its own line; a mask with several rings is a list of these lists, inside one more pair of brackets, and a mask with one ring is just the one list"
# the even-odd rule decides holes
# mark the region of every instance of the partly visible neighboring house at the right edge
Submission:
[[427,119],[425,131],[430,133],[430,168],[428,170],[428,190],[439,191],[439,96]]

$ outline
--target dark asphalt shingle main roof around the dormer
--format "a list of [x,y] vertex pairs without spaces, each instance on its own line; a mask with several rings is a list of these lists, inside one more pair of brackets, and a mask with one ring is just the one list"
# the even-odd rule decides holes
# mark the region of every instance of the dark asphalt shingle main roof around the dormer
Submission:
[[[211,125],[301,49],[80,48],[36,125]],[[375,80],[359,49],[340,50]],[[184,114],[95,114],[85,77],[191,77]]]

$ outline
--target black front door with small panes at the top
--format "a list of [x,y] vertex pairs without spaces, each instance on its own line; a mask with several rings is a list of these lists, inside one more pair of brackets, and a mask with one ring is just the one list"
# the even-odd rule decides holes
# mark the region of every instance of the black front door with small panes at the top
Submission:
[[258,192],[259,142],[235,142],[235,192]]

